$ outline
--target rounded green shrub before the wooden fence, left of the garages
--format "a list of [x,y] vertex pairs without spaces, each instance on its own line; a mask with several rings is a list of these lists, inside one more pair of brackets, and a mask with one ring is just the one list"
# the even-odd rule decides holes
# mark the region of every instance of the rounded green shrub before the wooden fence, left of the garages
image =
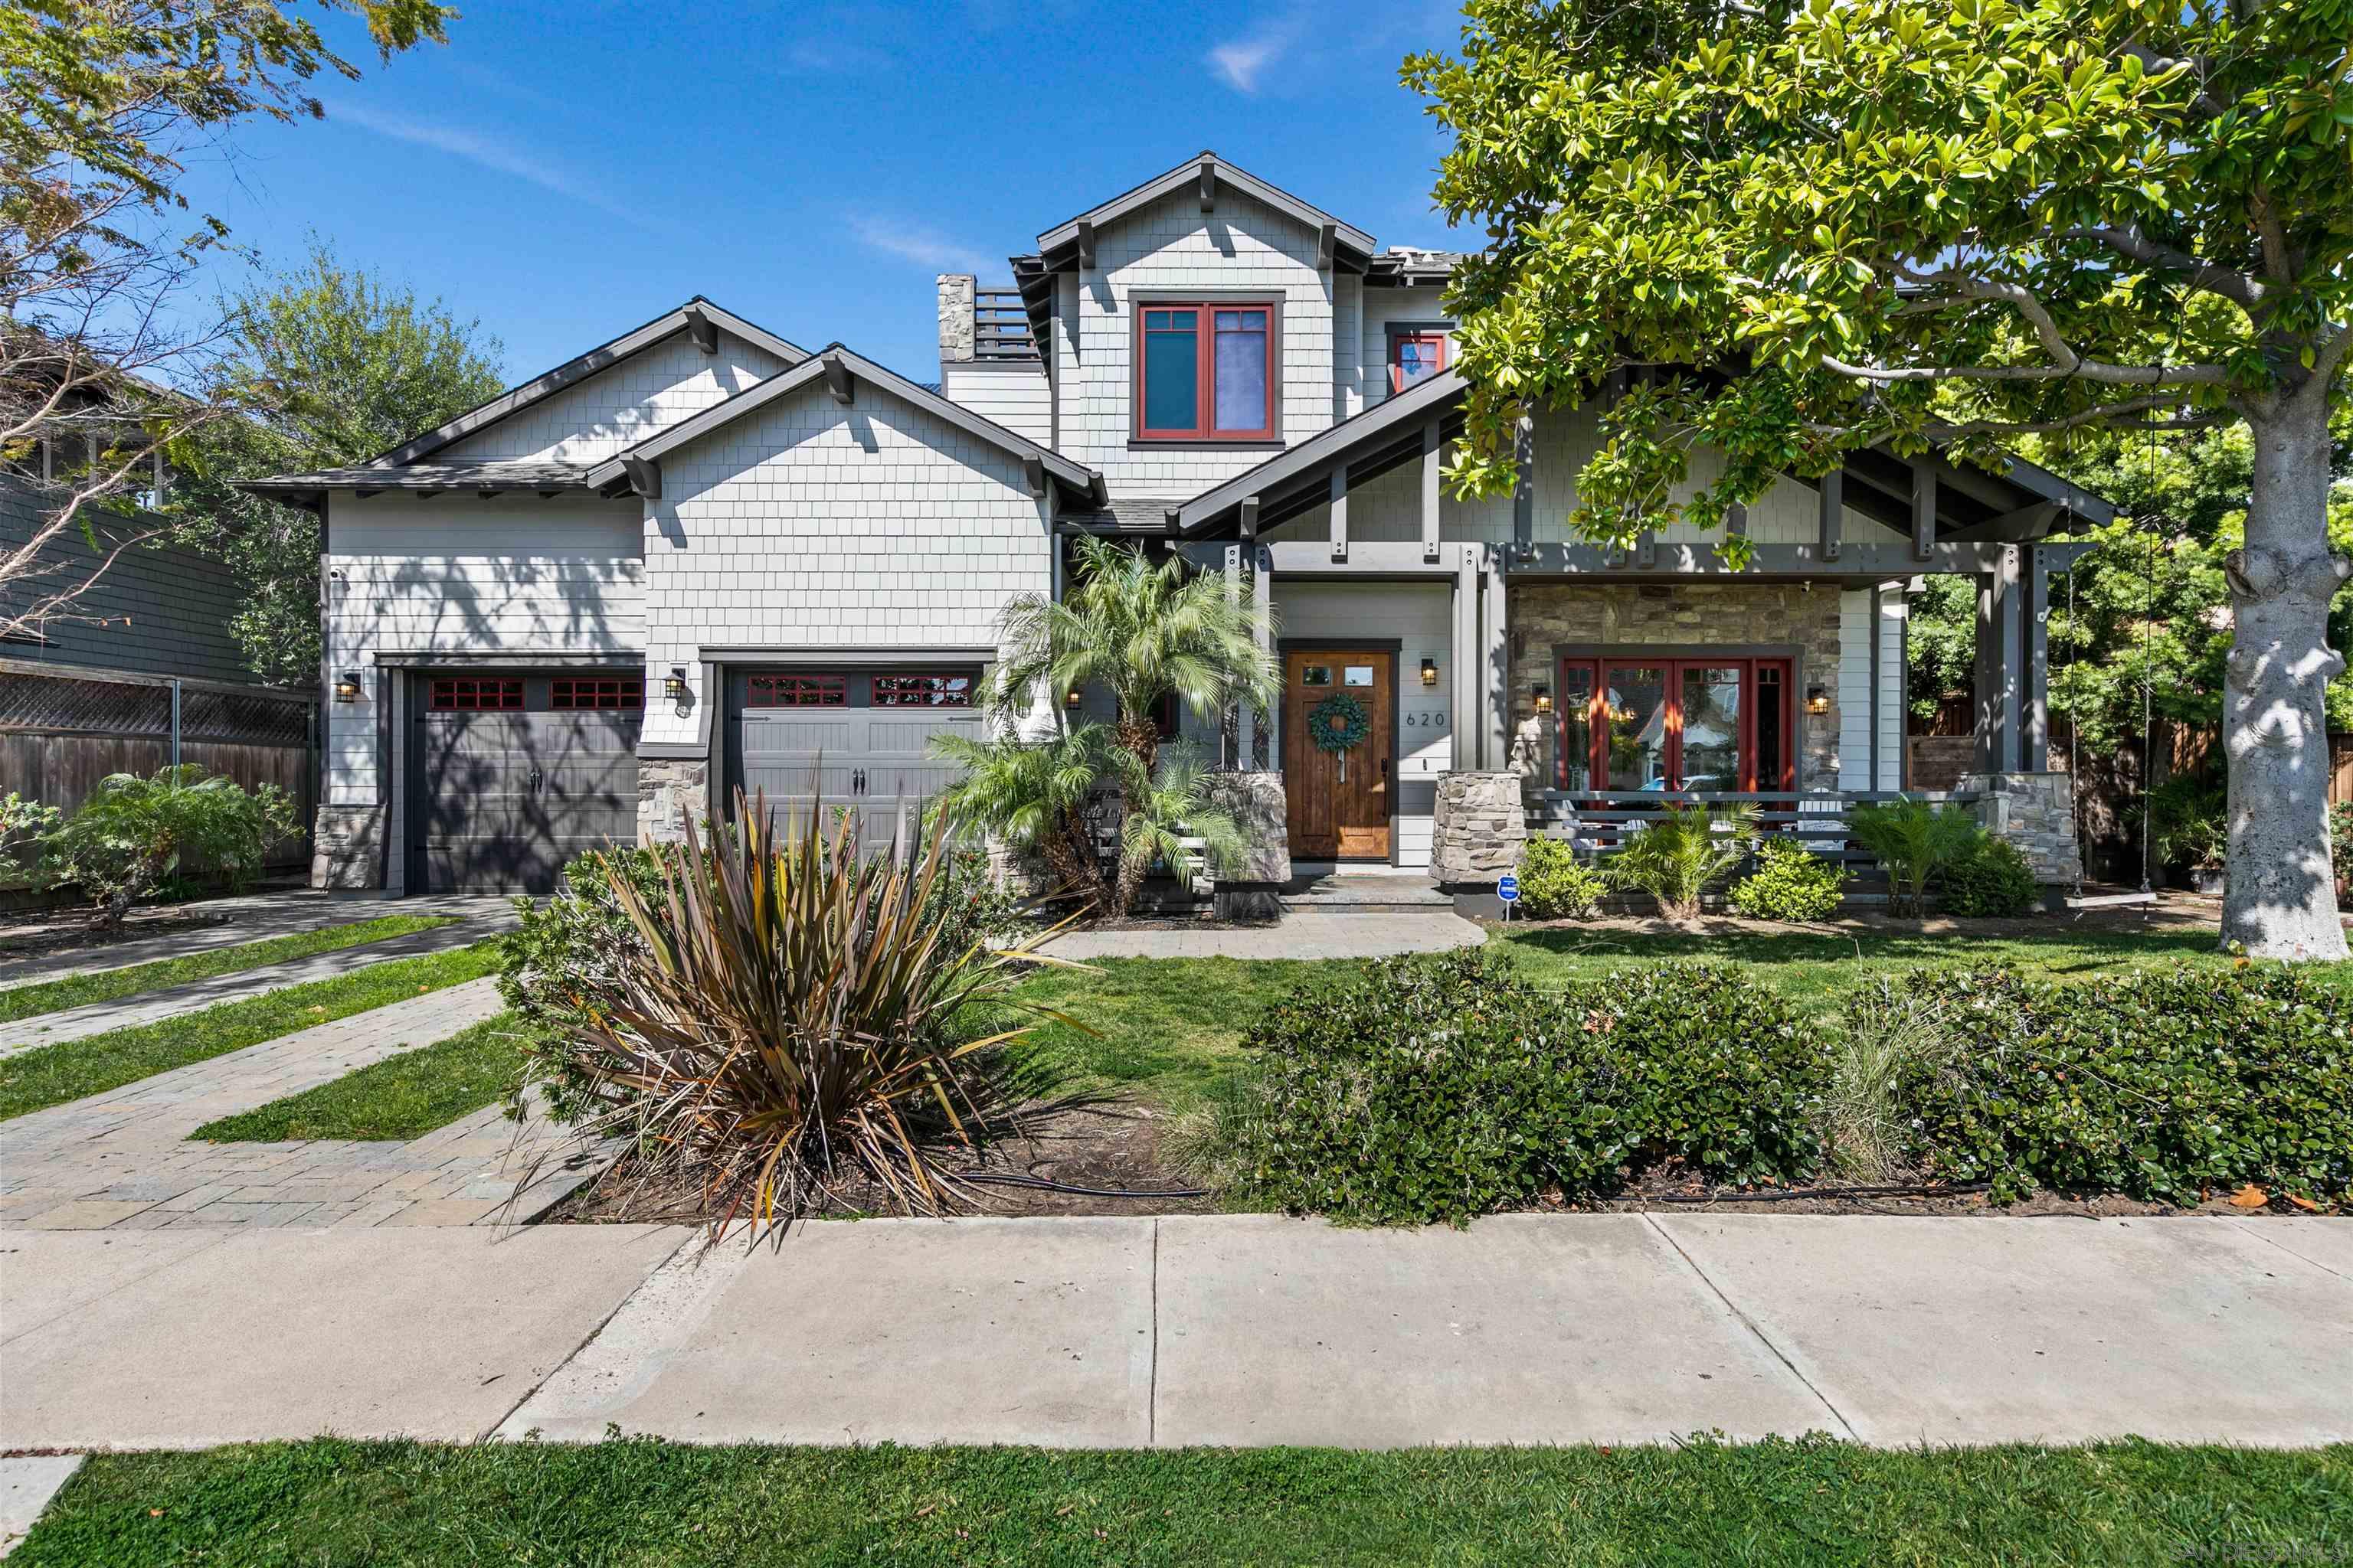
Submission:
[[285,790],[247,795],[238,780],[184,762],[153,778],[108,773],[47,846],[59,877],[89,889],[104,922],[120,922],[155,891],[205,879],[249,886],[264,856],[296,830]]

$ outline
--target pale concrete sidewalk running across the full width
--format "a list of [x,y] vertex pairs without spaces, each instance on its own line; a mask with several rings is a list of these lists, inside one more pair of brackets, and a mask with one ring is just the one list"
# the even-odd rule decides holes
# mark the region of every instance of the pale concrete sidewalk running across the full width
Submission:
[[[2353,1439],[2353,1220],[0,1237],[0,1448]],[[252,1333],[268,1324],[268,1333]]]

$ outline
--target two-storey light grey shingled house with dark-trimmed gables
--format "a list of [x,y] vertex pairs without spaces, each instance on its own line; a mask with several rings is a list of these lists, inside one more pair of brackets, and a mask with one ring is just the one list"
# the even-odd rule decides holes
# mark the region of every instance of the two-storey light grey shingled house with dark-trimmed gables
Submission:
[[[2052,534],[2106,503],[1859,454],[1746,510],[1746,574],[1682,524],[1609,555],[1565,527],[1586,409],[1532,421],[1515,496],[1457,501],[1452,263],[1202,153],[1040,233],[1012,289],[941,277],[939,390],[696,299],[372,463],[256,484],[327,527],[320,879],[546,886],[736,788],[814,785],[887,837],[1075,534],[1238,569],[1275,611],[1266,733],[1181,731],[1301,860],[1492,884],[1497,811],[1897,790],[1927,571],[1981,583],[1972,788],[2040,778],[2042,592],[2080,548]],[[1369,724],[1344,755],[1306,733],[1334,696]],[[2049,788],[2017,792],[2068,879]]]

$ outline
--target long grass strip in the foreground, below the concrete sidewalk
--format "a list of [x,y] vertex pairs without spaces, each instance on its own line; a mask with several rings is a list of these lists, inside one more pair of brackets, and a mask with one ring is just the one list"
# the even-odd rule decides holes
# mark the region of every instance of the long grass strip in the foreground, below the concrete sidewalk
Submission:
[[21,1568],[2325,1563],[2353,1448],[1042,1453],[318,1439],[96,1453]]

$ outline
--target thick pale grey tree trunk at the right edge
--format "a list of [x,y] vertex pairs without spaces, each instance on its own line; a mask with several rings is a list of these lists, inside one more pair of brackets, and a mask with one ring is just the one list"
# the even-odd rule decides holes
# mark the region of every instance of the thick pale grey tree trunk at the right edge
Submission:
[[2329,867],[2329,599],[2353,567],[2329,555],[2329,414],[2308,383],[2249,418],[2254,494],[2233,550],[2233,646],[2221,733],[2231,757],[2231,853],[2221,940],[2261,959],[2341,959]]

